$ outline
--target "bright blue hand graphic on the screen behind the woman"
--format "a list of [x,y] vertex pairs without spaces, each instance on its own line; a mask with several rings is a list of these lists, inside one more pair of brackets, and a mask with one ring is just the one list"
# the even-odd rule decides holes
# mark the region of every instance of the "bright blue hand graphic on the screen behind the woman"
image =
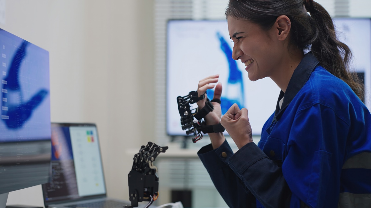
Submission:
[[[229,65],[228,81],[223,87],[224,93],[220,98],[221,113],[224,114],[234,103],[237,103],[240,108],[244,107],[244,89],[242,72],[237,68],[236,60],[232,58],[232,49],[219,32],[217,32],[216,35],[220,41],[220,48],[226,56]],[[206,93],[207,97],[211,100],[214,90],[207,90]]]

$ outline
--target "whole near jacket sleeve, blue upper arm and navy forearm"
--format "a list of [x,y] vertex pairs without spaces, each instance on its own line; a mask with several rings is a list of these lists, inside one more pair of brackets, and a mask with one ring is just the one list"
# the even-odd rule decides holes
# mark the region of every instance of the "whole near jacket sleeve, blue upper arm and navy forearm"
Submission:
[[245,145],[229,158],[229,166],[266,208],[337,207],[342,164],[338,154],[347,132],[334,110],[316,104],[296,113],[282,168],[265,154],[267,143],[262,150],[254,143]]

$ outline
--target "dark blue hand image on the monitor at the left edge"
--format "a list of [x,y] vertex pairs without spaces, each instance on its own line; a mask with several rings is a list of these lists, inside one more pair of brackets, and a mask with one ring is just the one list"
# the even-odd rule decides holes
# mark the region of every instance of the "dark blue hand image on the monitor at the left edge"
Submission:
[[[2,121],[9,129],[19,129],[30,119],[33,111],[42,103],[47,94],[46,89],[40,89],[34,93],[29,100],[24,101],[22,85],[30,84],[28,82],[20,82],[20,69],[24,58],[27,56],[27,41],[18,47],[9,66],[9,70],[4,78],[2,85],[3,109]],[[27,71],[27,73],[34,73],[35,71]],[[33,93],[33,92],[28,92]],[[4,101],[5,99],[5,101]]]

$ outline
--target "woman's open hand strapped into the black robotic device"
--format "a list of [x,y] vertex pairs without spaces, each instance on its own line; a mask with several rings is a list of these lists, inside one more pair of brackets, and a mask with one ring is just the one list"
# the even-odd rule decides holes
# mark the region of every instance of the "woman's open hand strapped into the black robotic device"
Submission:
[[[213,99],[219,99],[221,97],[221,83],[218,83],[216,86],[215,84],[210,84],[210,83],[217,83],[219,81],[219,74],[213,75],[210,77],[206,77],[203,80],[200,80],[198,83],[198,97],[203,95],[206,90],[212,89],[215,87],[214,90],[214,97]],[[205,98],[203,100],[200,100],[197,102],[198,109],[201,110],[203,107],[205,107],[205,102],[207,100],[207,95],[205,94]],[[214,105],[214,110],[208,113],[204,119],[206,121],[206,125],[214,125],[214,124],[219,124],[220,123],[220,117],[221,117],[221,107],[220,104],[217,102],[212,102]]]

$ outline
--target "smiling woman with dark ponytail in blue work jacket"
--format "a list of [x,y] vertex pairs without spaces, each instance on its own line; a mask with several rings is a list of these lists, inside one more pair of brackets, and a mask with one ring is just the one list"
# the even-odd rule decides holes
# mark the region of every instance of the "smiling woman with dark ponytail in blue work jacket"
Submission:
[[[281,89],[258,145],[246,108],[234,104],[221,117],[213,102],[205,117],[239,148],[233,154],[216,132],[198,152],[229,207],[370,207],[371,114],[328,12],[313,0],[230,0],[226,17],[233,59],[250,80],[269,77]],[[220,99],[218,81],[201,80],[198,95],[215,87]]]

